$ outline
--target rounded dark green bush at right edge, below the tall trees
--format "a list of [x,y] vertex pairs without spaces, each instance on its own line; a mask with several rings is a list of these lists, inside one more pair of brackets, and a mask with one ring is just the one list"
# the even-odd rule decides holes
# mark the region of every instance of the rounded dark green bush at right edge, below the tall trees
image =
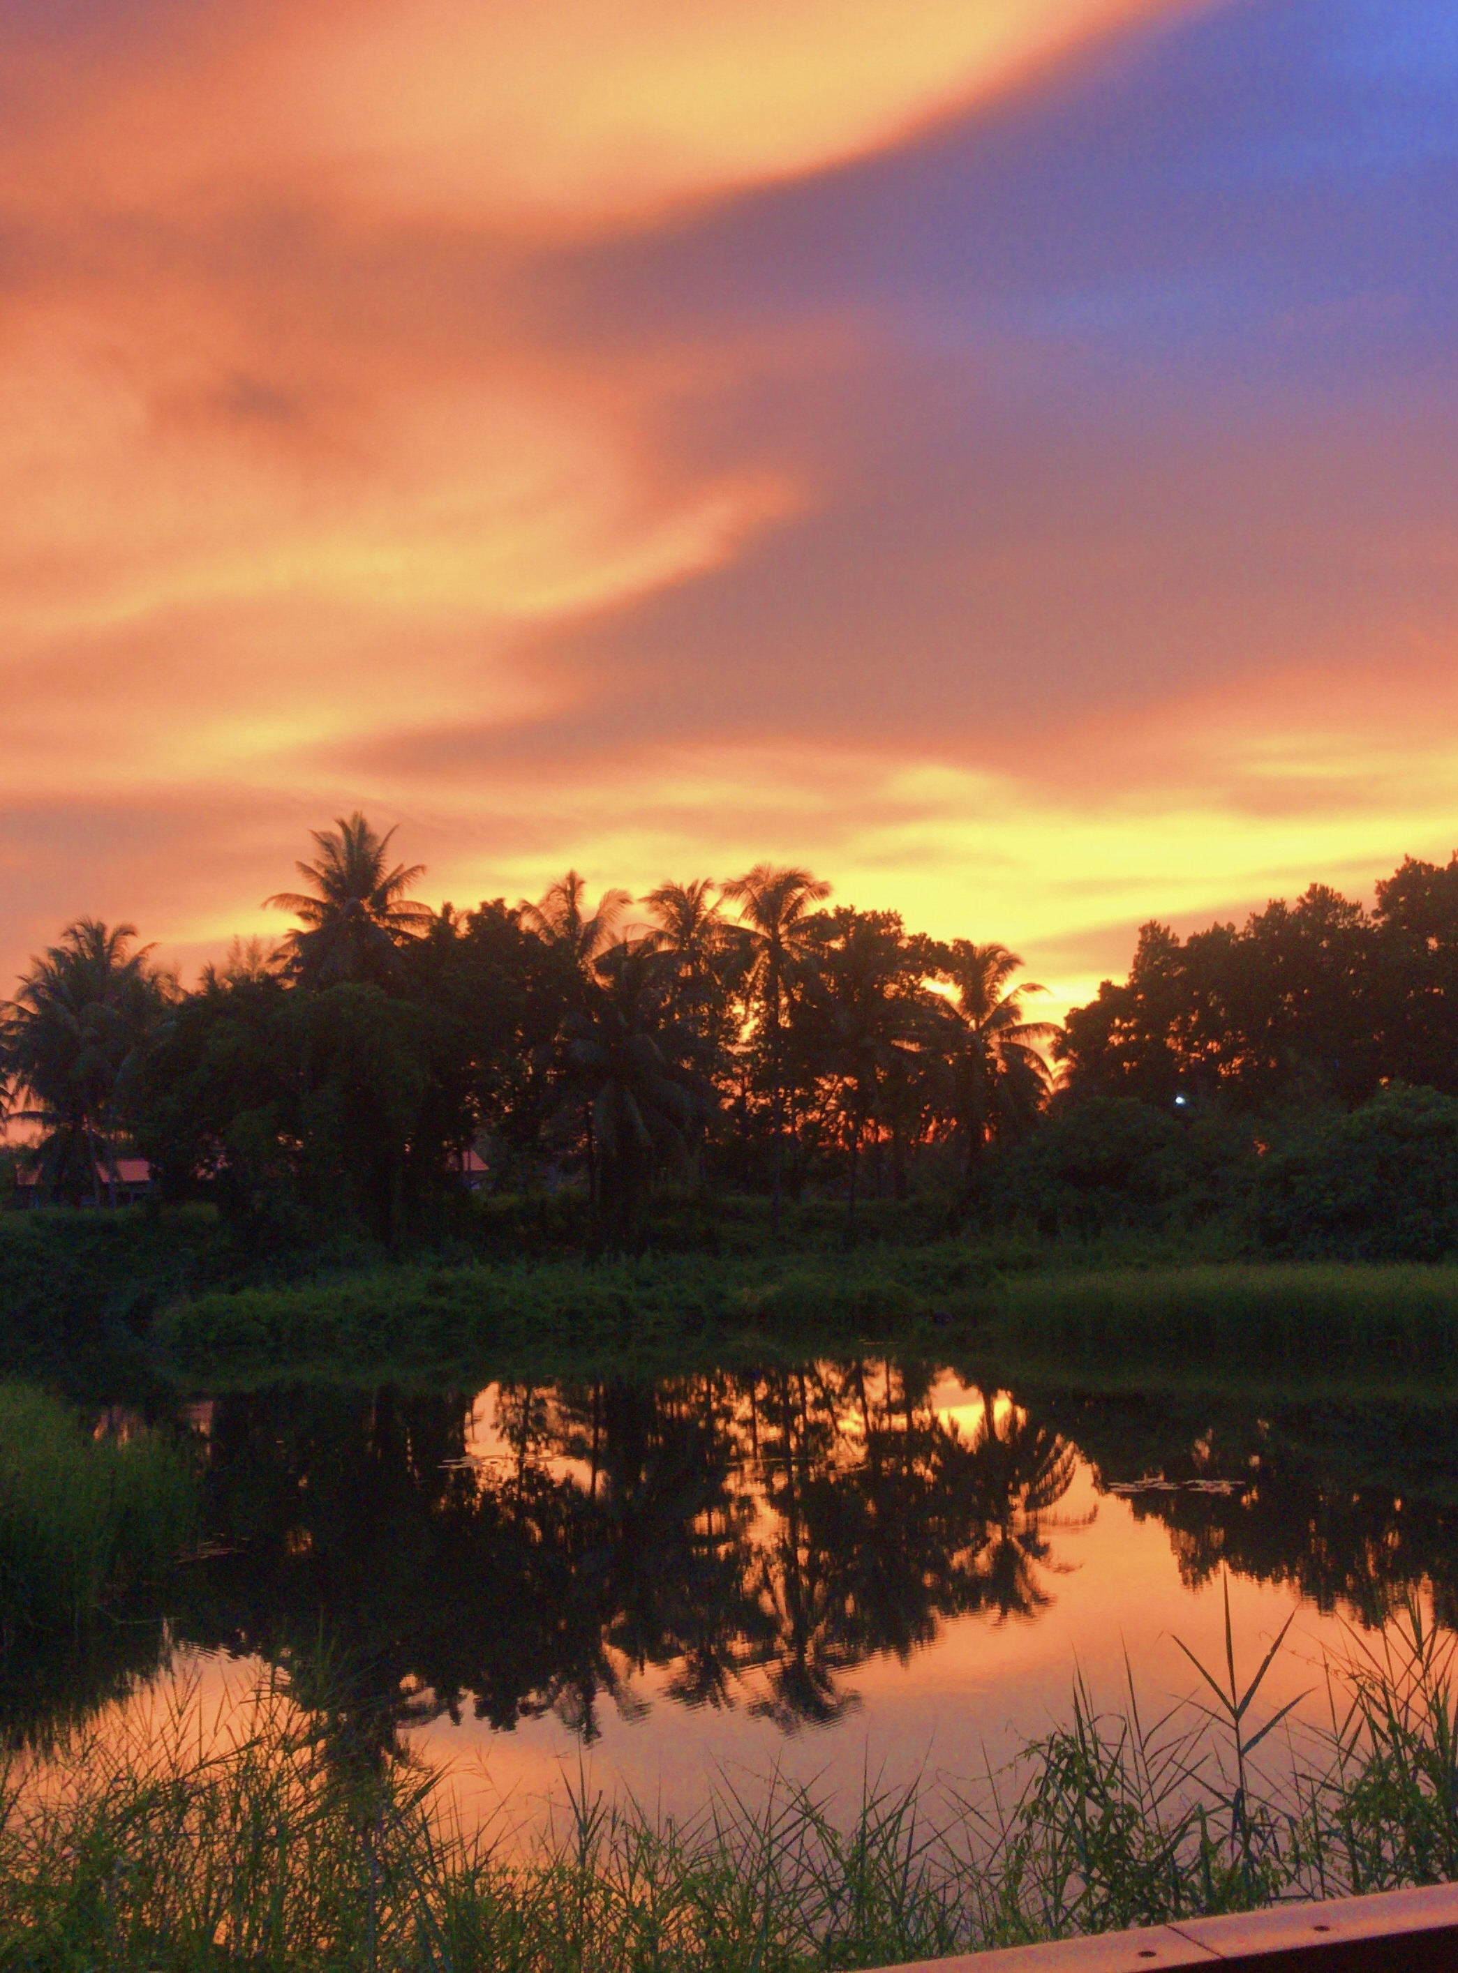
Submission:
[[1292,1259],[1440,1261],[1458,1251],[1458,1101],[1385,1089],[1271,1152],[1261,1245]]

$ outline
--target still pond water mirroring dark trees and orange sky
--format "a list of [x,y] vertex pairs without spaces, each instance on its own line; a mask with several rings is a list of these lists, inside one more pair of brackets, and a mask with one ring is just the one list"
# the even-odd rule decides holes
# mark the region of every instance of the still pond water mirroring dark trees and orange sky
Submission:
[[860,1359],[201,1403],[209,1553],[6,1703],[284,1665],[448,1764],[470,1819],[580,1772],[693,1813],[771,1774],[967,1782],[1075,1673],[1188,1693],[1221,1576],[1247,1669],[1298,1608],[1271,1703],[1411,1592],[1458,1612],[1450,1407],[992,1383]]

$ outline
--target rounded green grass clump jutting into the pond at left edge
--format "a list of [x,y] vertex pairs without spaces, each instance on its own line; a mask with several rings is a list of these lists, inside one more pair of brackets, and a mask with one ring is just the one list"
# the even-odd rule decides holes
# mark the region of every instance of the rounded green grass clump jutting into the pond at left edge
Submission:
[[0,1644],[77,1632],[193,1533],[193,1476],[162,1436],[91,1438],[45,1391],[0,1385]]

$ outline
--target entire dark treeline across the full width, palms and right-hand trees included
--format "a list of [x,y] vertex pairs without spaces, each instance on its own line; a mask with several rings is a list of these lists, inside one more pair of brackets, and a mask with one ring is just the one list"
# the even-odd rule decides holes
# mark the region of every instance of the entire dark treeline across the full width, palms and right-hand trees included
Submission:
[[253,1243],[399,1241],[568,1186],[631,1245],[661,1180],[698,1198],[939,1198],[1050,1235],[1219,1227],[1288,1255],[1458,1251],[1458,856],[1373,910],[1312,886],[1243,927],[1146,925],[1065,1028],[1004,945],[835,904],[801,868],[588,900],[412,902],[365,817],[316,833],[278,947],[193,990],[130,925],[71,925],[0,1020],[43,1200],[126,1156]]

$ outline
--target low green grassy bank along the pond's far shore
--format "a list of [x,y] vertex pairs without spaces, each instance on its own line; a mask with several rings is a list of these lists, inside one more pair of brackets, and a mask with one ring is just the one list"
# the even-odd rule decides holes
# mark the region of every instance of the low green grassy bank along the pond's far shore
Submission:
[[180,1302],[158,1340],[213,1385],[274,1373],[552,1377],[764,1361],[864,1344],[971,1350],[1016,1365],[1107,1373],[1359,1367],[1458,1389],[1452,1267],[1030,1269],[1022,1249],[963,1241],[852,1255],[543,1267],[377,1269],[341,1280]]

